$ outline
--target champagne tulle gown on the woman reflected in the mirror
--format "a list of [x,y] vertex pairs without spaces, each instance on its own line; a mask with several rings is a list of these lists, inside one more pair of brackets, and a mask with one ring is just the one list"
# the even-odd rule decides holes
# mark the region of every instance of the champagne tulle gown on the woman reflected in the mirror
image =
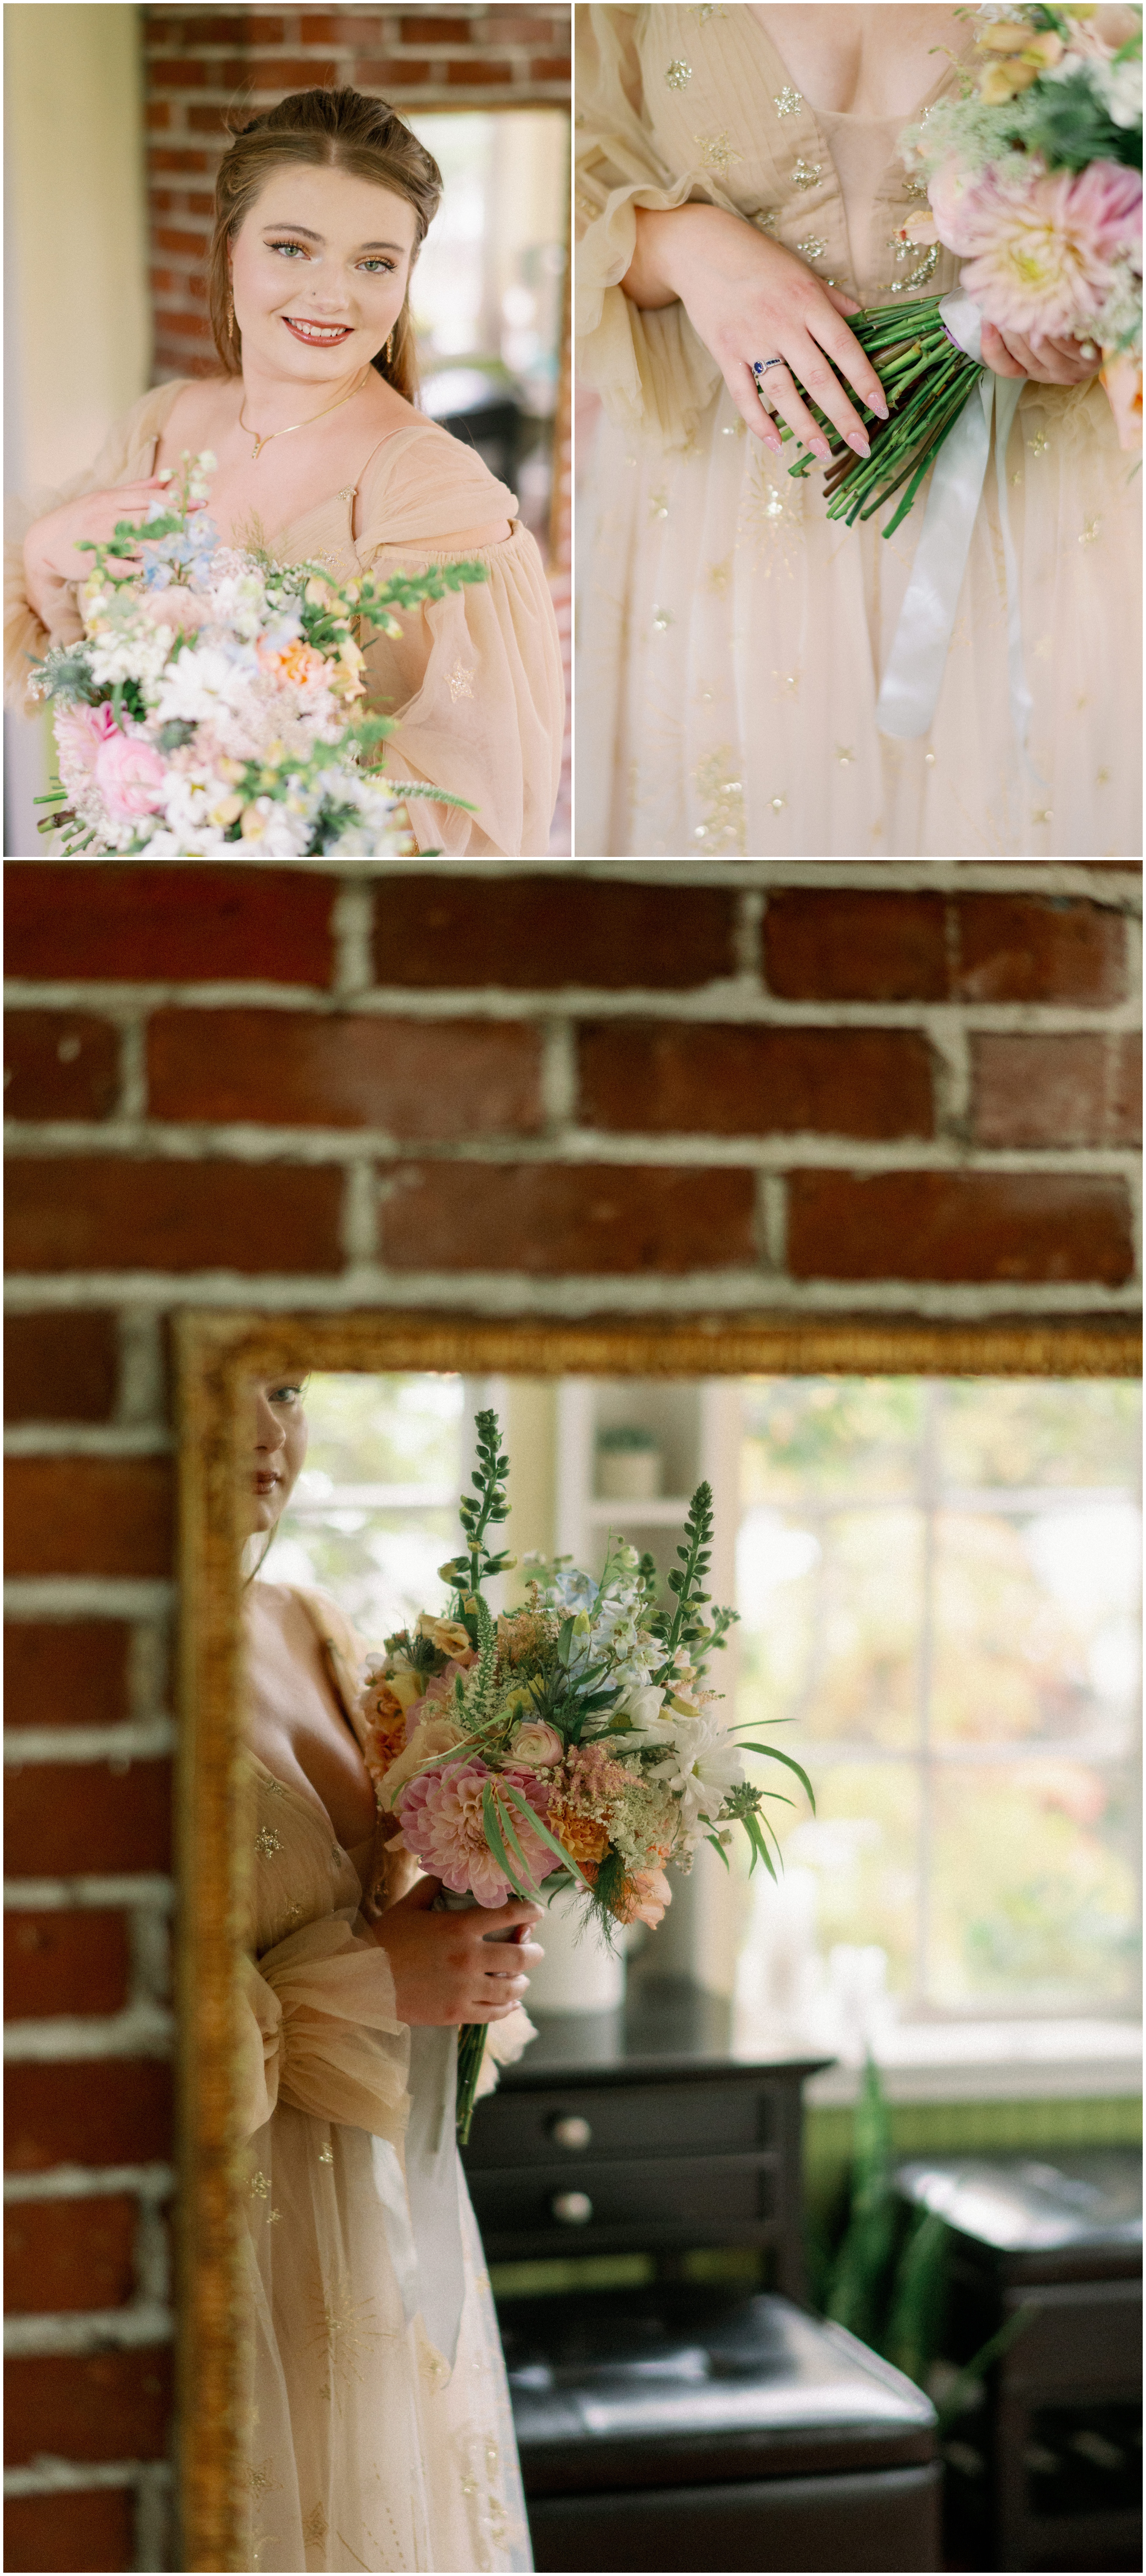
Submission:
[[[299,1595],[353,1718],[355,1638]],[[407,2321],[376,2146],[402,2161],[409,2030],[371,1888],[415,1875],[345,1852],[312,1801],[247,1754],[245,2218],[250,2532],[242,2566],[531,2568],[505,2362],[458,2172],[464,2306],[451,2360]]]

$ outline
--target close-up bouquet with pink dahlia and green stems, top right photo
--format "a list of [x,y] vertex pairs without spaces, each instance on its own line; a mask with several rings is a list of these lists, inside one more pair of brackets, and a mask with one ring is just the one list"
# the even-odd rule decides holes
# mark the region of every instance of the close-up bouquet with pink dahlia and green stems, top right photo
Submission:
[[[1084,5],[986,0],[973,15],[979,85],[966,80],[961,98],[940,98],[901,137],[927,206],[896,229],[896,258],[922,258],[906,281],[917,283],[945,245],[966,260],[961,291],[997,330],[1074,337],[1102,361],[1120,446],[1141,446],[1141,8],[1118,49]],[[906,487],[883,528],[894,536],[973,394],[981,363],[940,307],[935,296],[850,319],[891,417],[860,404],[870,440],[860,461],[816,412],[832,446],[829,518],[855,526]],[[809,469],[811,456],[791,466]]]

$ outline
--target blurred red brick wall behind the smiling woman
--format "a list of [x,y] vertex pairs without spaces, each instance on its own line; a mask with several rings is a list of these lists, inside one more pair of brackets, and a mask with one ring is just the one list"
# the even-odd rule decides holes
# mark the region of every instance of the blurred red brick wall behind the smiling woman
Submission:
[[[260,10],[144,8],[144,116],[155,381],[209,376],[206,322],[211,191],[224,152],[224,116],[255,116],[288,90],[327,82],[376,90],[397,108],[569,106],[569,8],[502,0],[407,8]],[[551,587],[572,696],[572,515],[569,386],[556,440]],[[569,732],[551,850],[572,848]]]

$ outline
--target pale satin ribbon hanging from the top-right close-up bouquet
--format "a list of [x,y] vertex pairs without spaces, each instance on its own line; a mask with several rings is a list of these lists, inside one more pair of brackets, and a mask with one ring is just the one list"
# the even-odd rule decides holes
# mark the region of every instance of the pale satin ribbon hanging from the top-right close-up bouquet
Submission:
[[[981,358],[984,317],[979,304],[963,289],[955,289],[955,294],[943,296],[940,314],[966,355]],[[1022,386],[1025,376],[991,376],[986,368],[976,392],[968,394],[955,428],[943,440],[914,549],[912,580],[876,701],[876,724],[881,734],[896,734],[899,739],[927,734],[932,724],[994,420],[994,479],[999,487],[1002,562],[1007,572],[1010,711],[1020,755],[1030,775],[1038,778],[1028,752],[1033,698],[1022,670],[1020,574],[1007,507],[1007,438]]]

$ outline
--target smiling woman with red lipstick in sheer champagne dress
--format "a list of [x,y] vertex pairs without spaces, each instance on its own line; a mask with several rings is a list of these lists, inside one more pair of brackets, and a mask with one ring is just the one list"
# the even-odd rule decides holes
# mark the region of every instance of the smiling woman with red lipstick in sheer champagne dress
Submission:
[[144,394],[13,549],[5,688],[21,703],[28,657],[80,636],[82,549],[206,448],[224,544],[319,559],[340,582],[482,562],[482,582],[366,644],[366,703],[397,716],[391,775],[474,806],[412,796],[417,848],[543,855],[561,654],[541,556],[515,495],[415,407],[409,278],[438,201],[425,144],[358,90],[301,90],[232,139],[209,258],[221,374]]

